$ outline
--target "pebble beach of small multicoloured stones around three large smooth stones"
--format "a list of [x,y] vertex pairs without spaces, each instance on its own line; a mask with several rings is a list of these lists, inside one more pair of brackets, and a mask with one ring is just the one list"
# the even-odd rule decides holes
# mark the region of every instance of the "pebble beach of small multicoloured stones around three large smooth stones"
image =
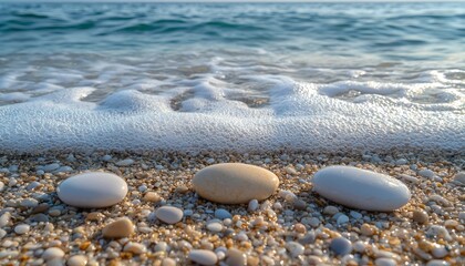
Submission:
[[[219,204],[193,178],[219,163],[270,171],[265,200]],[[464,265],[465,156],[459,152],[152,152],[0,156],[1,265]],[[313,176],[348,165],[392,176],[411,198],[393,212],[334,203]],[[81,208],[58,196],[85,172],[122,177],[127,194]]]

